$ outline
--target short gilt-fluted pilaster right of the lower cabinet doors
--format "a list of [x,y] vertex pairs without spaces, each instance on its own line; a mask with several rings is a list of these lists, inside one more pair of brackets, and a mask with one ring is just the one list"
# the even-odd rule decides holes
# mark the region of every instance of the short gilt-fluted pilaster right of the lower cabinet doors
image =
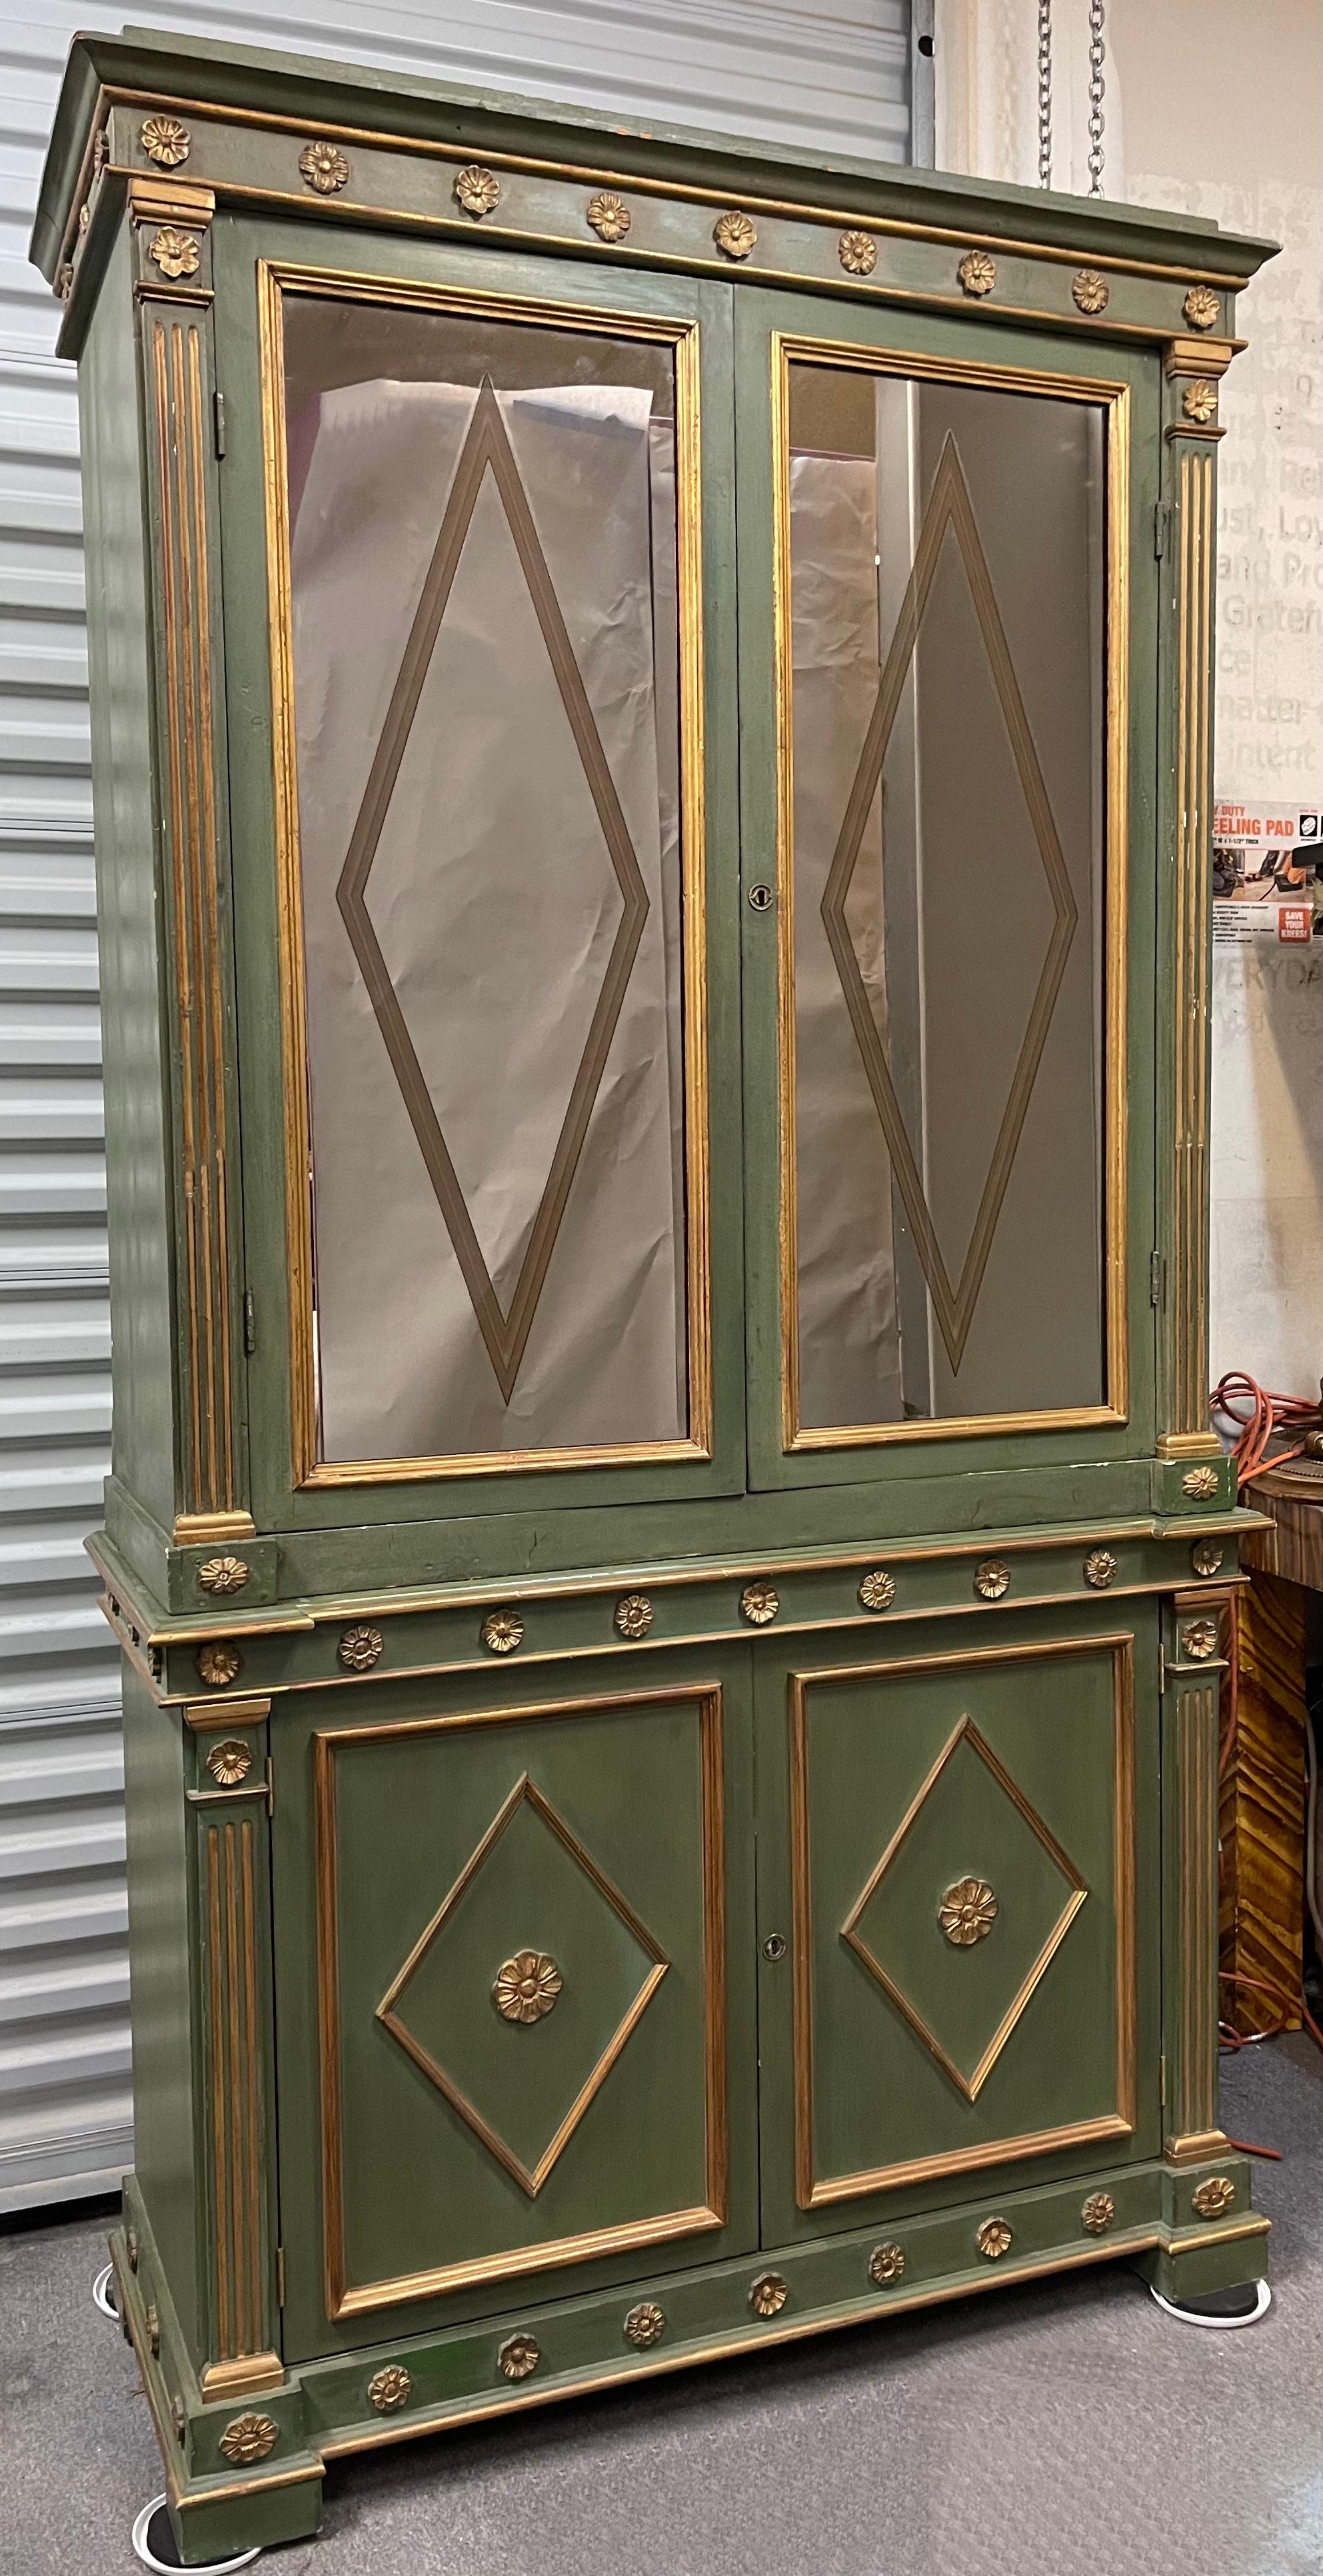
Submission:
[[[1179,2045],[1169,2159],[1217,2130],[1217,1680],[1176,1695]],[[1174,2154],[1184,2148],[1184,2154]]]

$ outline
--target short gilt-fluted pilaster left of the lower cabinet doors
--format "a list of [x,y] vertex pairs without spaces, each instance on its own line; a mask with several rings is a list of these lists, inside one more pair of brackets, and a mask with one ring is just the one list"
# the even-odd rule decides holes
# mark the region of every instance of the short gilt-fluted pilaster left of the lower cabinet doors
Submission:
[[[206,1826],[203,1893],[216,2300],[211,2342],[216,2362],[252,2354],[270,2367],[263,2264],[257,1850],[250,1816]],[[237,2393],[234,2372],[224,2385]]]

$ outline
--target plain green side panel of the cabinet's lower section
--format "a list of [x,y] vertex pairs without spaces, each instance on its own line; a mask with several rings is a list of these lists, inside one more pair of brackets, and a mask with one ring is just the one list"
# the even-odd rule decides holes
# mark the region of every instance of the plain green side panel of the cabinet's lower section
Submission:
[[198,2087],[183,1718],[124,1664],[134,2174],[188,2349],[198,2316]]

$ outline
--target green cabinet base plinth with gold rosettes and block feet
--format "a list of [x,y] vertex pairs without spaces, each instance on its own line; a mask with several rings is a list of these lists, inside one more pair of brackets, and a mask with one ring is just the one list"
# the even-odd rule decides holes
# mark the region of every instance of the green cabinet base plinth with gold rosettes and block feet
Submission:
[[[1212,2190],[1210,2190],[1212,2184]],[[1202,2210],[1217,2208],[1207,2223]],[[1081,2182],[988,2192],[939,2213],[772,2246],[698,2269],[643,2272],[628,2287],[510,2308],[443,2334],[394,2336],[304,2362],[278,2385],[203,2403],[134,2184],[111,2239],[121,2318],[134,2342],[185,2566],[252,2543],[296,2540],[322,2519],[324,2463],[414,2434],[515,2414],[873,2324],[1045,2272],[1130,2262],[1163,2295],[1197,2298],[1264,2272],[1266,2218],[1248,2208],[1243,2156],[1207,2169],[1104,2166]]]

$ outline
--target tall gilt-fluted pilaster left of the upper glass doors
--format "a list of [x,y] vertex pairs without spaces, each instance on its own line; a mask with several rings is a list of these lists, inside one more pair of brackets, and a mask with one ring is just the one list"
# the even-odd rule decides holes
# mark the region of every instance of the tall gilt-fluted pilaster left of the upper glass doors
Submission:
[[[229,1324],[229,1139],[221,997],[221,858],[211,711],[203,345],[196,319],[149,312],[149,417],[160,489],[160,659],[178,1012],[185,1404],[183,1507],[237,1528]],[[247,1515],[245,1515],[247,1520]],[[252,1528],[247,1522],[247,1528]]]

